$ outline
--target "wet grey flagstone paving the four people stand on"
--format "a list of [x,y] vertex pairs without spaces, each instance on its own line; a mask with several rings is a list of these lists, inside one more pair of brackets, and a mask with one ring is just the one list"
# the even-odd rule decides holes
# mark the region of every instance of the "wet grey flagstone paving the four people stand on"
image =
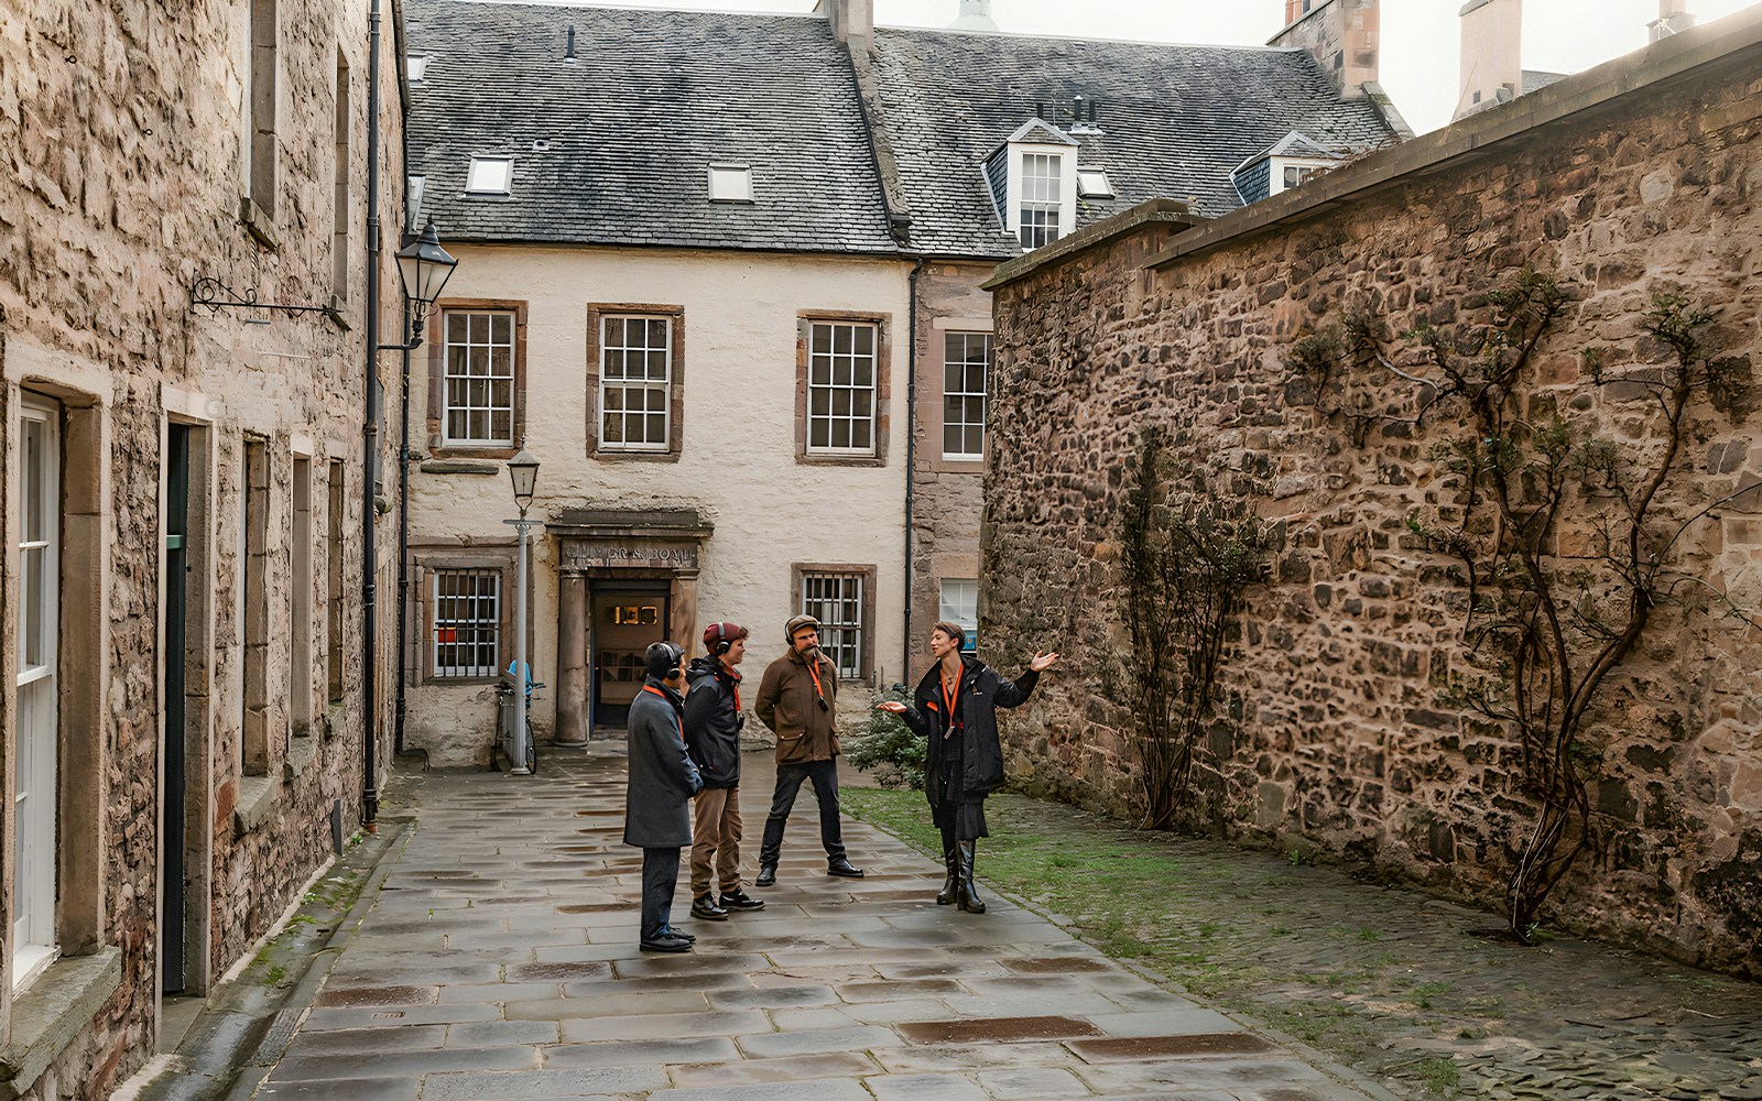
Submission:
[[[559,759],[562,763],[559,763]],[[758,837],[768,761],[742,807]],[[1107,960],[1004,898],[934,905],[941,868],[848,828],[825,874],[812,796],[761,913],[636,948],[640,856],[617,756],[534,779],[433,773],[361,927],[257,1097],[462,1101],[1360,1101],[1388,1097]],[[684,870],[682,870],[684,874]]]

